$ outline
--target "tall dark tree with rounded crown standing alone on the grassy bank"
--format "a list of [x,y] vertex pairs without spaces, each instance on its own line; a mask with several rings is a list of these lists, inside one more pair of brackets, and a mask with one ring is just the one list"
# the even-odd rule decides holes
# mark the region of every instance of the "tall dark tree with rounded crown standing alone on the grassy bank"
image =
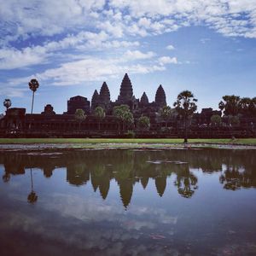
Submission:
[[188,134],[187,134],[187,122],[189,117],[197,109],[195,104],[197,99],[194,98],[194,95],[189,90],[183,90],[178,96],[177,101],[173,103],[173,106],[176,108],[177,113],[181,115],[184,119],[185,123],[185,136],[184,136],[184,143],[188,143]]

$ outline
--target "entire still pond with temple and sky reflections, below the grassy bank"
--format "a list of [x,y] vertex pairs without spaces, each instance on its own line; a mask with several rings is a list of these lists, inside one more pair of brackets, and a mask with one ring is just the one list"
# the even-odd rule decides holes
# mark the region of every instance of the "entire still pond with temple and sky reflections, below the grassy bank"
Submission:
[[256,255],[255,150],[0,154],[1,255]]

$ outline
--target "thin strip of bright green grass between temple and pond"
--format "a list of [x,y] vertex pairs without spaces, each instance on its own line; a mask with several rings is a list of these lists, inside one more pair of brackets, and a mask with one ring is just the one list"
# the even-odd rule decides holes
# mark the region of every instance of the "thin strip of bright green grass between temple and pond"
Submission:
[[[98,144],[98,143],[137,143],[137,144],[182,144],[183,139],[155,138],[155,139],[113,139],[113,138],[0,138],[1,144]],[[226,139],[189,139],[189,143],[210,144],[247,144],[256,145],[256,138]]]

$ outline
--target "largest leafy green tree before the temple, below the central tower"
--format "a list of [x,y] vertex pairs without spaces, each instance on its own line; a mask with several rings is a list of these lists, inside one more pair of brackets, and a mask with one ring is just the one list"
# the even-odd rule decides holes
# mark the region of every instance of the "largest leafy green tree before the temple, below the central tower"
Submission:
[[133,115],[127,105],[115,106],[113,108],[113,116],[119,120],[119,130],[120,123],[122,124],[122,131],[125,130],[125,124],[131,125],[134,123]]

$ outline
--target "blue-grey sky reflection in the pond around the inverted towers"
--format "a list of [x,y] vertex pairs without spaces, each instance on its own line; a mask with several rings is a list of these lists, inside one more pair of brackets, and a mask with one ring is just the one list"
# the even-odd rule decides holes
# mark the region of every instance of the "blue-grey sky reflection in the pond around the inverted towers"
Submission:
[[218,180],[220,172],[189,171],[198,177],[199,186],[191,198],[177,193],[176,174],[172,173],[162,197],[154,179],[149,179],[146,189],[135,183],[127,210],[115,180],[102,200],[90,181],[79,187],[67,183],[66,168],[56,168],[49,178],[35,168],[38,202],[30,205],[26,202],[30,170],[11,175],[9,183],[0,181],[1,255],[7,255],[5,248],[10,250],[8,245],[13,247],[17,241],[19,255],[33,250],[37,255],[178,255],[197,252],[201,244],[209,250],[226,247],[230,240],[236,244],[253,240],[255,189],[225,190]]

